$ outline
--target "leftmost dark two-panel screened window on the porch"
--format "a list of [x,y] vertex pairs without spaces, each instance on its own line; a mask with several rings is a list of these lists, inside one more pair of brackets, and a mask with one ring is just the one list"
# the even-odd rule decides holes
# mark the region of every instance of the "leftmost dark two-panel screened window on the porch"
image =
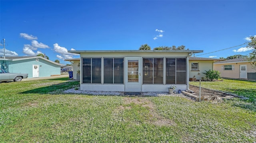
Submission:
[[83,83],[101,83],[101,58],[83,58]]

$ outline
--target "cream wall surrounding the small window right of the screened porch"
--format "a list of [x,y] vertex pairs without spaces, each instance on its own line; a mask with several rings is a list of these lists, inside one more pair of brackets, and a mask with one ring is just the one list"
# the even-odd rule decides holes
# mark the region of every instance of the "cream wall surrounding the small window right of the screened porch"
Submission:
[[[191,70],[191,64],[198,63],[198,71]],[[196,79],[199,80],[202,77],[205,77],[206,71],[213,70],[213,60],[189,60],[189,77],[192,78],[196,76]]]

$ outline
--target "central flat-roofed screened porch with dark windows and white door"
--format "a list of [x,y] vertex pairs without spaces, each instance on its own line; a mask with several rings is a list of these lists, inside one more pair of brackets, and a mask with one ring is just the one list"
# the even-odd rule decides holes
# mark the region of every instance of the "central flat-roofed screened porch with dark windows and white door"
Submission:
[[176,89],[188,89],[188,57],[203,51],[72,50],[68,52],[80,54],[80,90],[168,92],[170,85],[176,85]]

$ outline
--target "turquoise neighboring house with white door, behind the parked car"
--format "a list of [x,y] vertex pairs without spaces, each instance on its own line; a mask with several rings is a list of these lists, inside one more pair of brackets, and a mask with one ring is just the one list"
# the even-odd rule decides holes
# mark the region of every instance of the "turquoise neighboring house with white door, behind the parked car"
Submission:
[[11,73],[28,73],[28,78],[60,75],[64,66],[39,56],[0,57],[0,68]]

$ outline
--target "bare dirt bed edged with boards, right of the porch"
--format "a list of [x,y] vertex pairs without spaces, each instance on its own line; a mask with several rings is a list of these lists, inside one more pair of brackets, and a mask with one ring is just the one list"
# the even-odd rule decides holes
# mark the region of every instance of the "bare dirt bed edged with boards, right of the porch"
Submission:
[[[195,95],[199,95],[199,87],[193,86],[193,85],[189,85],[189,89],[194,91]],[[219,96],[219,97],[230,97],[230,98],[234,98],[234,96],[228,94],[228,93],[223,93],[223,92],[219,92],[219,91],[214,91],[214,90],[209,90],[209,89],[204,89],[201,88],[201,96],[205,97],[205,96]]]

